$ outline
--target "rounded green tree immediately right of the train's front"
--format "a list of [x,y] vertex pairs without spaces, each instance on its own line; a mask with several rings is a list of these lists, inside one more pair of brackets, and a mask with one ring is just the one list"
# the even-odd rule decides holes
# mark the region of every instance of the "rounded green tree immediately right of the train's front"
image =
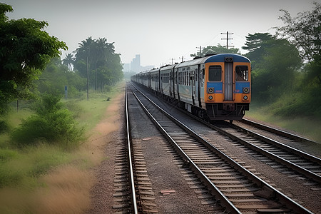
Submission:
[[249,34],[246,56],[255,58],[252,70],[253,99],[273,102],[282,93],[294,91],[297,71],[302,66],[299,52],[286,39],[270,34]]

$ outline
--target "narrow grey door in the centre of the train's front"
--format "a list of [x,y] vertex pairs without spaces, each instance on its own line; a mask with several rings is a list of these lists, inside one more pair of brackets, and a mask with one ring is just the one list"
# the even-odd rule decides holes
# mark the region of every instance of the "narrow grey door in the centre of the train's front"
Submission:
[[224,101],[233,101],[233,58],[225,58]]

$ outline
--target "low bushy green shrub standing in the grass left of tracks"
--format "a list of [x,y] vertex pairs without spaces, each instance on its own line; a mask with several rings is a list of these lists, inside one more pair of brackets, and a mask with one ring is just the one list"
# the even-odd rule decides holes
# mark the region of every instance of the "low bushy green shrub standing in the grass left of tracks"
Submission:
[[63,148],[74,148],[83,139],[83,128],[67,109],[62,108],[60,97],[44,94],[37,103],[36,114],[24,120],[14,129],[11,138],[19,146],[39,142],[58,144]]

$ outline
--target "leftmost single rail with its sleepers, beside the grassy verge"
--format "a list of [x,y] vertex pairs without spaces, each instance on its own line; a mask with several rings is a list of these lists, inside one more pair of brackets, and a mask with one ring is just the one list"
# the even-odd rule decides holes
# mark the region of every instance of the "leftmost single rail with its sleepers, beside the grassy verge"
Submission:
[[127,88],[125,91],[126,128],[125,136],[116,148],[113,209],[115,213],[158,213],[153,203],[155,198],[141,152],[141,143],[131,136]]

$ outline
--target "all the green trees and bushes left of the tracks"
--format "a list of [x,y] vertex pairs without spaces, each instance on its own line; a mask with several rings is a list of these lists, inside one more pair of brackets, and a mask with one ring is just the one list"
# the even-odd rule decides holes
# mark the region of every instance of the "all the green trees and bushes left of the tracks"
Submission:
[[[80,98],[89,89],[108,91],[123,78],[120,54],[106,38],[89,37],[61,61],[61,49],[68,47],[44,31],[48,23],[10,20],[6,13],[12,11],[0,3],[0,134],[16,146],[41,142],[73,148],[83,138],[83,127],[61,103],[65,89],[68,98]],[[11,128],[6,116],[21,102],[28,102],[33,114]]]

